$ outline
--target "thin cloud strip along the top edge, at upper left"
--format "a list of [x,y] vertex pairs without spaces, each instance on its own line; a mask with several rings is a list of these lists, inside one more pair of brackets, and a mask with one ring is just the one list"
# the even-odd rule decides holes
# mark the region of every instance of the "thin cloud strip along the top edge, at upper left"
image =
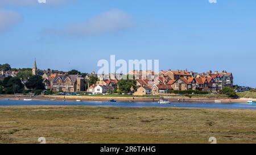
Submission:
[[0,6],[34,6],[34,5],[61,5],[77,0],[46,0],[46,3],[39,3],[38,0],[0,0]]

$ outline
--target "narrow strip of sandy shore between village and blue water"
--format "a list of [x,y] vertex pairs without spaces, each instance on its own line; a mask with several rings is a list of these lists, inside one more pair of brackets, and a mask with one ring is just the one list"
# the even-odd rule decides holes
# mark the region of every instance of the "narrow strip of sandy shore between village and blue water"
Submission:
[[190,102],[190,103],[214,103],[215,100],[220,100],[221,103],[245,103],[250,98],[239,98],[239,99],[228,99],[228,98],[207,98],[207,97],[196,97],[188,98],[184,96],[168,96],[168,97],[88,97],[88,96],[64,96],[64,95],[38,95],[35,97],[30,97],[29,95],[0,95],[0,100],[23,100],[23,99],[32,99],[32,100],[51,100],[51,101],[108,101],[115,99],[118,102],[157,102],[161,99],[168,99],[172,102]]

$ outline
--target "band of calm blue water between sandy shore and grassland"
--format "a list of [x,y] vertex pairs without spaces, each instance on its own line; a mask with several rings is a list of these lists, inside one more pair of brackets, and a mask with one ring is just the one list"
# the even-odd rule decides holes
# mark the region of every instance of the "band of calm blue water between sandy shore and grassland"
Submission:
[[256,104],[247,103],[177,103],[159,104],[157,102],[98,102],[98,101],[45,101],[45,100],[0,100],[0,106],[108,106],[108,107],[182,107],[182,108],[221,108],[254,109]]

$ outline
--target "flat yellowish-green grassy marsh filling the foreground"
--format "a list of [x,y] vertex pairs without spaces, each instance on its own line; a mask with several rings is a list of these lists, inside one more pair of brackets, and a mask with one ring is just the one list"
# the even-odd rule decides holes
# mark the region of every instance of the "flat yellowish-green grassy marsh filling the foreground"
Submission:
[[256,143],[255,110],[0,107],[0,143]]

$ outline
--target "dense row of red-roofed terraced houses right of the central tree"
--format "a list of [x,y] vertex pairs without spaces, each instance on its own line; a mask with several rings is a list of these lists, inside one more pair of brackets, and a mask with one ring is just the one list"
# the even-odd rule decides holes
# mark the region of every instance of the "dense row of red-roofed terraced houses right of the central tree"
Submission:
[[[143,73],[135,72],[133,73]],[[140,74],[139,74],[140,75]],[[156,76],[156,74],[154,74]],[[223,71],[218,73],[209,71],[207,73],[194,73],[187,70],[160,71],[154,79],[142,79],[138,76],[137,89],[139,87],[150,87],[152,94],[167,93],[168,90],[200,90],[216,92],[223,87],[233,87],[233,74]],[[142,89],[142,88],[141,88]]]

